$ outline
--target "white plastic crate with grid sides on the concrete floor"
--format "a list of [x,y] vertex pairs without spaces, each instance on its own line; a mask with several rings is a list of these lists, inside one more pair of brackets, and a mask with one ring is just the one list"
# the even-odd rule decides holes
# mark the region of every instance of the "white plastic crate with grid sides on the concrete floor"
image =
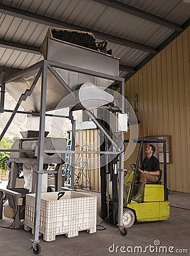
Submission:
[[[59,192],[42,193],[39,232],[44,241],[55,236],[79,236],[79,231],[96,232],[97,198],[85,193],[65,191],[57,200]],[[26,195],[24,229],[34,229],[35,194]]]

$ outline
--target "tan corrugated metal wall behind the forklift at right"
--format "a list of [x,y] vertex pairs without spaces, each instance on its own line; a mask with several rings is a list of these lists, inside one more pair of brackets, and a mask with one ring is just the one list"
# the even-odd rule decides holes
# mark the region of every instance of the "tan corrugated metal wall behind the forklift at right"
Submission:
[[190,28],[126,82],[134,107],[138,93],[139,136],[171,135],[168,188],[190,192]]

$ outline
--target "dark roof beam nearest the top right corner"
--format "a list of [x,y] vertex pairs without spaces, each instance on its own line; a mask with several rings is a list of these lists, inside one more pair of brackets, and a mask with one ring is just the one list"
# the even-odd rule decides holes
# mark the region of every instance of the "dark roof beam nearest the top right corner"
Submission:
[[154,22],[156,24],[160,24],[164,27],[172,28],[172,30],[176,31],[183,31],[183,28],[180,24],[177,24],[175,22],[171,22],[170,20],[164,19],[162,17],[156,16],[151,13],[147,13],[147,11],[143,11],[141,9],[137,9],[133,6],[126,5],[125,3],[119,2],[117,0],[93,0],[94,2],[102,3],[102,5],[106,5],[109,7],[112,7],[114,9],[117,9],[119,11],[123,11],[125,13],[129,13],[131,15],[137,16],[142,19],[149,20],[151,22]]

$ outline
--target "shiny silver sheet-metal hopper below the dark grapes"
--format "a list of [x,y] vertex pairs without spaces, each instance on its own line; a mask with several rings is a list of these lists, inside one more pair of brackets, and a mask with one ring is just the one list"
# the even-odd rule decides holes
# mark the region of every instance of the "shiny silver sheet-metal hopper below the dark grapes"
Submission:
[[[75,44],[63,42],[59,39],[48,38],[47,43],[47,59],[55,63],[70,65],[80,69],[88,69],[91,73],[79,73],[68,69],[54,67],[54,71],[63,79],[65,84],[72,91],[84,82],[91,82],[94,85],[105,89],[113,83],[111,79],[105,79],[92,75],[93,72],[104,73],[110,76],[118,76],[119,59],[106,55],[105,53],[94,51],[93,49],[77,46]],[[6,91],[16,100],[19,100],[20,94],[26,89],[30,89],[32,82],[39,72],[39,67],[32,69],[30,72],[23,73],[17,79],[7,82]],[[42,75],[41,75],[42,76]],[[40,78],[41,78],[40,76]],[[26,101],[22,101],[21,105],[26,111],[40,112],[40,92],[41,79],[35,85],[31,96]],[[50,72],[47,71],[47,97],[46,111],[54,110],[65,96],[69,94],[60,81]]]

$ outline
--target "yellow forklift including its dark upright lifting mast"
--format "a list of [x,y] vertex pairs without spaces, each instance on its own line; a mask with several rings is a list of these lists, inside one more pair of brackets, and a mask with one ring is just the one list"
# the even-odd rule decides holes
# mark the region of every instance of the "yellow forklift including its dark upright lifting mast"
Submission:
[[[130,164],[131,169],[126,172],[123,180],[123,232],[120,232],[122,236],[127,235],[127,228],[130,228],[134,222],[167,220],[170,216],[170,201],[168,201],[167,189],[166,140],[135,138],[125,139],[124,142],[130,143],[131,141],[137,143],[139,148],[136,163]],[[142,172],[139,166],[141,166],[143,160],[143,144],[147,146],[147,144],[154,143],[159,143],[159,147],[163,146],[163,171],[160,170],[158,181],[146,183],[142,195],[142,202],[137,203],[132,200],[132,197],[136,195],[139,186],[138,181],[136,181],[136,176],[138,172]],[[107,190],[107,198],[106,191],[101,190],[101,208],[98,210],[98,214],[102,219],[105,219],[105,221],[117,224],[119,180],[118,175],[113,172],[114,164],[117,164],[117,158],[115,158],[115,162],[113,161],[113,163],[110,164],[111,168],[109,168],[109,173],[111,181],[109,182],[109,191]],[[163,184],[161,181],[162,176]],[[105,183],[101,185],[102,188],[105,189]]]

